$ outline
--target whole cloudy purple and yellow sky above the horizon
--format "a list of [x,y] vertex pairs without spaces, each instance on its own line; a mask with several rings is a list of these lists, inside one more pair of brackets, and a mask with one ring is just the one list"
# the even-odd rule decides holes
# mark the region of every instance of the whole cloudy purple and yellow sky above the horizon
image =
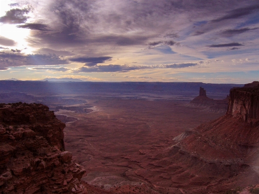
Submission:
[[259,0],[0,0],[0,80],[259,80]]

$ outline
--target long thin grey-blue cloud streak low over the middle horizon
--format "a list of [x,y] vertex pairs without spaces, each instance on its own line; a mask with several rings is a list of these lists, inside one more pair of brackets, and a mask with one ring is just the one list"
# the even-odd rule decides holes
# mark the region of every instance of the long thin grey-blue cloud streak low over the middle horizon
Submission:
[[154,65],[154,66],[128,66],[128,65],[98,65],[90,68],[81,67],[75,70],[74,73],[79,72],[128,72],[134,70],[146,70],[146,69],[179,69],[197,66],[198,63],[180,63],[180,64],[168,64],[168,65]]

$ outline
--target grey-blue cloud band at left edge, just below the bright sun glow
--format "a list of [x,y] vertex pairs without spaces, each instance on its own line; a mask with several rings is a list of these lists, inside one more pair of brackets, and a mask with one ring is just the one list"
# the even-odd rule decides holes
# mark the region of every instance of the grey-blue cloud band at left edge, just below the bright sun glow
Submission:
[[0,69],[6,70],[14,66],[32,65],[63,65],[69,64],[67,60],[61,59],[55,54],[21,54],[0,52]]

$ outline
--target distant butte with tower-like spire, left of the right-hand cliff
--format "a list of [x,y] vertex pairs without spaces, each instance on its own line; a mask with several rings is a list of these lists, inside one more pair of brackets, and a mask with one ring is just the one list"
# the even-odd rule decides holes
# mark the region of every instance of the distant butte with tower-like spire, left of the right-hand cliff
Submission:
[[206,90],[200,87],[199,96],[190,101],[190,106],[199,106],[207,111],[225,113],[227,110],[228,96],[223,100],[208,98]]

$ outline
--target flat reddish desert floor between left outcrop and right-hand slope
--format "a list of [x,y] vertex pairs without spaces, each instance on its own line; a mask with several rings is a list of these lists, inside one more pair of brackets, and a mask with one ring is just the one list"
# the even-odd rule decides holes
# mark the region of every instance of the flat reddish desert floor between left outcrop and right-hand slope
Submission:
[[181,100],[84,100],[94,111],[62,112],[78,119],[66,123],[65,147],[86,169],[82,179],[104,189],[144,183],[154,191],[170,192],[172,177],[182,167],[166,159],[164,150],[177,143],[174,137],[224,115],[188,107],[189,102]]

